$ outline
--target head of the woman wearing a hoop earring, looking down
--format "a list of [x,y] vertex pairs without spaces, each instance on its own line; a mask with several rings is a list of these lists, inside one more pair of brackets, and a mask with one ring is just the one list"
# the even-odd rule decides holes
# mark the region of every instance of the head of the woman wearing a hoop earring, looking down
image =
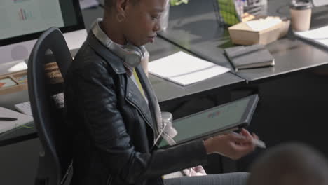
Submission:
[[105,32],[116,43],[129,41],[142,46],[152,42],[160,30],[159,18],[167,3],[168,0],[105,0]]

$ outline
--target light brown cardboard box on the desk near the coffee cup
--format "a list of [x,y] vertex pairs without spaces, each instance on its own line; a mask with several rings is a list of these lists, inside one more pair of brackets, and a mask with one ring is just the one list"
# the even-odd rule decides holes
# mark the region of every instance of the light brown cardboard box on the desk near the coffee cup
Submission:
[[231,41],[235,44],[252,45],[259,43],[266,45],[280,39],[282,36],[285,36],[288,32],[289,24],[289,20],[282,20],[282,22],[278,23],[278,25],[269,27],[268,29],[254,31],[246,24],[246,22],[240,22],[237,25],[229,27],[228,31]]

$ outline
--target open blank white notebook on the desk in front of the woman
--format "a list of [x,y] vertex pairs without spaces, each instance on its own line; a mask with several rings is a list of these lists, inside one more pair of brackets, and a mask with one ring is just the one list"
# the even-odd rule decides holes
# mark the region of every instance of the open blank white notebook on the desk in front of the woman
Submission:
[[149,62],[149,73],[179,85],[189,85],[230,71],[212,62],[179,51]]

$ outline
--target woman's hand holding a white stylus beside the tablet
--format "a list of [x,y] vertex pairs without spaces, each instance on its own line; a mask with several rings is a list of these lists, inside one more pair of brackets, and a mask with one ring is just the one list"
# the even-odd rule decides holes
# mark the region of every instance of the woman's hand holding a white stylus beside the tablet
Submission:
[[257,135],[250,135],[245,129],[240,133],[230,132],[226,135],[217,135],[204,141],[205,149],[208,154],[219,153],[233,160],[237,160],[247,153],[254,151],[255,145],[252,139],[259,139]]

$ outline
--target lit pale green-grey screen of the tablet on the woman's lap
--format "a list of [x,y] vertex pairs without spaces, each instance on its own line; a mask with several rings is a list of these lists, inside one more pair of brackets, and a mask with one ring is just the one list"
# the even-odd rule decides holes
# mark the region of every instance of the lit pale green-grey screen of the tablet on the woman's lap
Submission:
[[[254,95],[173,121],[173,126],[178,132],[173,139],[179,143],[200,135],[206,135],[206,133],[223,131],[244,123],[244,115],[248,110],[247,105],[252,97]],[[168,145],[167,142],[162,139],[159,147],[166,145]]]

